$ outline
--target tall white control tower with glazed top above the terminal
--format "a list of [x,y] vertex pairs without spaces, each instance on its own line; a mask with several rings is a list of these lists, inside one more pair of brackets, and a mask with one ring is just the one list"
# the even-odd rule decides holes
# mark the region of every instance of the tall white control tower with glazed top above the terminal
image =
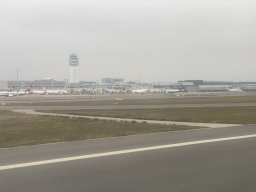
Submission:
[[69,87],[79,87],[79,62],[74,53],[69,57]]

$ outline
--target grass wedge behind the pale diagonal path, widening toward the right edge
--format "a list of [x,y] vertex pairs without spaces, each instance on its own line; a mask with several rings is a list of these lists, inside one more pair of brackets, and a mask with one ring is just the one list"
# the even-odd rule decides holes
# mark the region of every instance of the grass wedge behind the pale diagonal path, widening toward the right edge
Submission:
[[[42,111],[42,110],[41,110]],[[201,123],[256,124],[256,107],[193,107],[164,109],[88,109],[42,112],[129,119]]]

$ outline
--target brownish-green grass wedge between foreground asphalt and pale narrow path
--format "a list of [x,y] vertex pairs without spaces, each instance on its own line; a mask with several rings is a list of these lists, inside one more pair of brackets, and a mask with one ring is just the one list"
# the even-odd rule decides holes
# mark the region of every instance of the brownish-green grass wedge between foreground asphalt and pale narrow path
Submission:
[[196,128],[0,111],[0,148]]

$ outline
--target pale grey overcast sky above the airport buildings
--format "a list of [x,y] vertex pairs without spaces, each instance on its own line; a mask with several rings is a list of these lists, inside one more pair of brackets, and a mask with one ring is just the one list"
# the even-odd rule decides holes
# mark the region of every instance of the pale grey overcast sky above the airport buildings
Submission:
[[256,81],[255,0],[0,0],[0,80]]

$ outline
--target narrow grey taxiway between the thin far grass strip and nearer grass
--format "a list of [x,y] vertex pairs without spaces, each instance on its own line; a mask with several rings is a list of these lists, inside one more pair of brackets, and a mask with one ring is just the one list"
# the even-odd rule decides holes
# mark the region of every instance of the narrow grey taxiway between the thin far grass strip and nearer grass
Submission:
[[65,109],[148,109],[148,108],[185,108],[185,107],[235,107],[256,106],[256,103],[221,104],[169,104],[169,105],[101,105],[101,106],[0,106],[0,110],[65,110]]

